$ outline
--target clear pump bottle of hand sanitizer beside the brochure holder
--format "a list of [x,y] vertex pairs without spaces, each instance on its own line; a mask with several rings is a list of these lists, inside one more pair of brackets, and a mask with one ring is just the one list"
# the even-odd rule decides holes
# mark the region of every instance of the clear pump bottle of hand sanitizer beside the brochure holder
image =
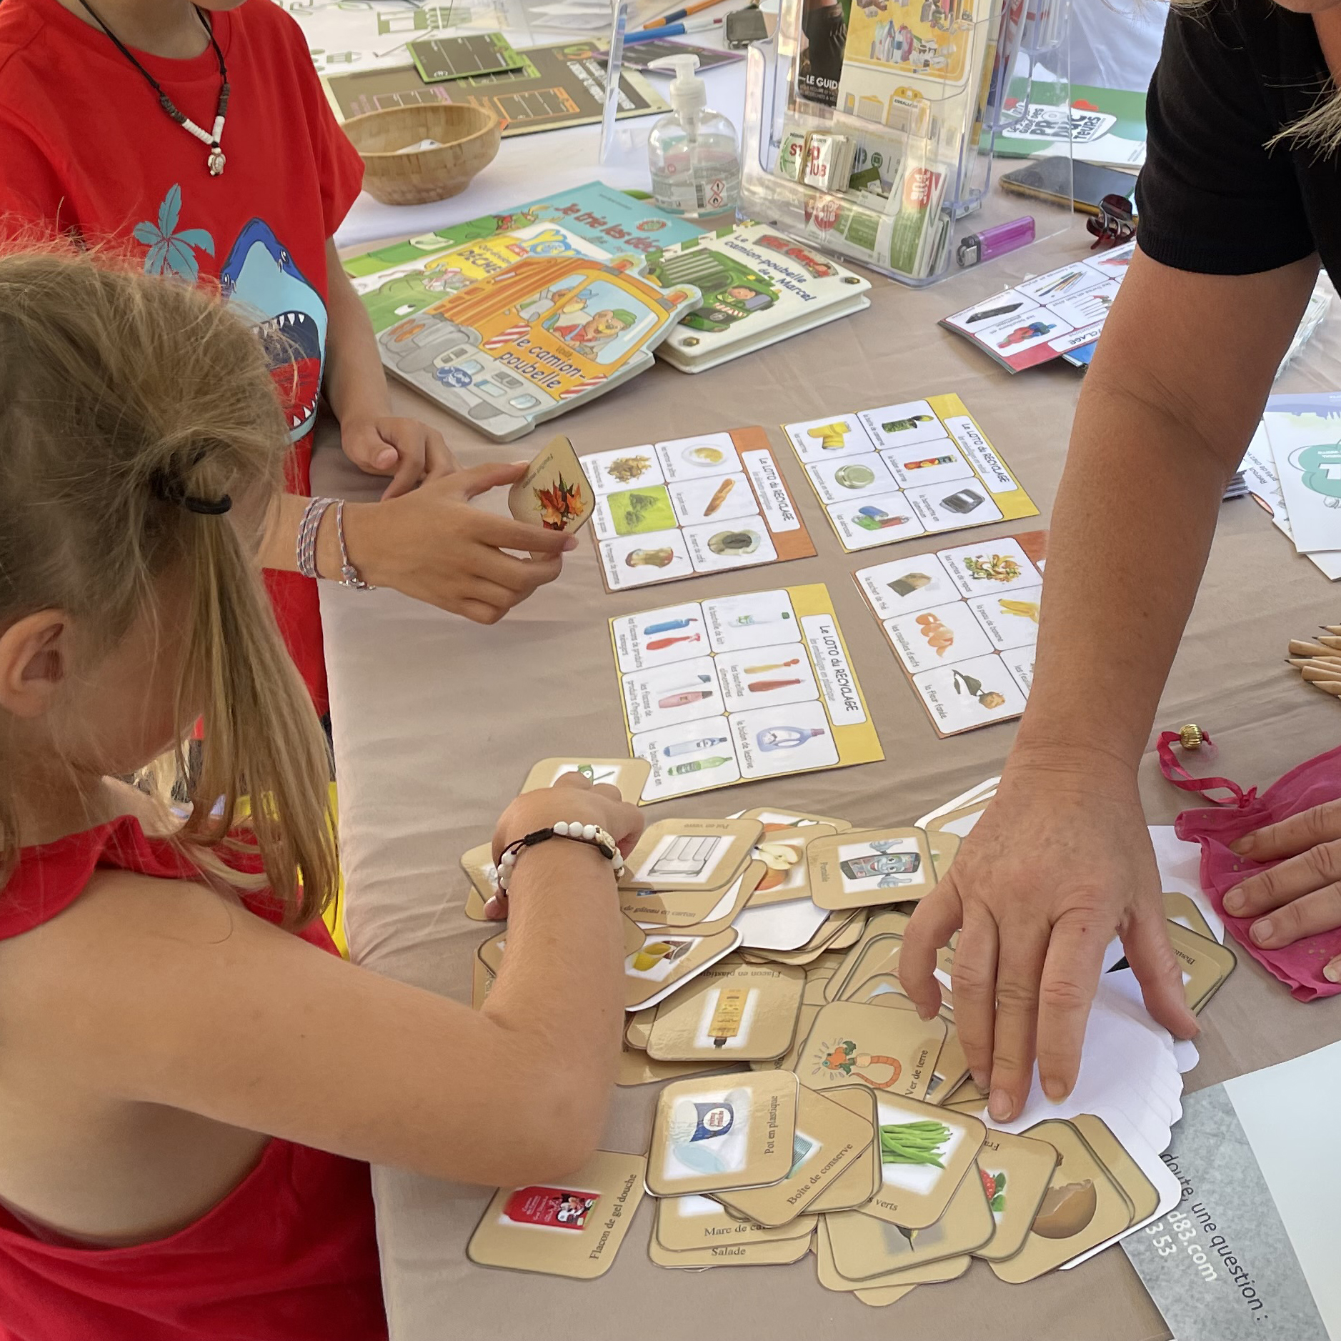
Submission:
[[657,208],[704,228],[735,221],[740,200],[740,146],[736,127],[708,107],[708,86],[695,74],[699,58],[661,56],[653,70],[673,70],[668,98],[675,109],[648,139],[652,194]]

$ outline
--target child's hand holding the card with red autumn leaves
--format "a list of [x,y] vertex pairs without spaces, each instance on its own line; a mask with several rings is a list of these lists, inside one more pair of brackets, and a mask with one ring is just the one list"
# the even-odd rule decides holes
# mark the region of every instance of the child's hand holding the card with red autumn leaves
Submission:
[[[374,586],[498,624],[563,569],[561,555],[577,536],[496,516],[471,499],[515,484],[526,465],[475,465],[385,503],[346,508],[350,559]],[[504,554],[530,552],[531,558]]]

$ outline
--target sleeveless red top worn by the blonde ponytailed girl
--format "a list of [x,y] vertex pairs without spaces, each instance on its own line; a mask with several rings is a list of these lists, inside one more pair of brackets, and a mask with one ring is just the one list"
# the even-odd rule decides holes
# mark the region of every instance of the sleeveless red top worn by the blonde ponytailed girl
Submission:
[[[235,865],[260,869],[251,856]],[[58,916],[109,868],[198,877],[130,817],[24,848],[0,889],[0,940]],[[259,917],[278,917],[264,894],[244,902]],[[299,935],[337,953],[319,919]],[[385,1337],[371,1187],[367,1165],[355,1160],[272,1140],[251,1173],[193,1224],[125,1248],[39,1236],[0,1207],[0,1341]]]

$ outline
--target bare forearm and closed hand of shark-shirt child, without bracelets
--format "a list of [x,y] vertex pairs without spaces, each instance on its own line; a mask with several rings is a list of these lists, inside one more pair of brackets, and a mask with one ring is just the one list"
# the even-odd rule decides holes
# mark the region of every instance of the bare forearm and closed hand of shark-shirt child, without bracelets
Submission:
[[367,308],[345,274],[335,240],[326,240],[326,396],[339,420],[345,455],[369,475],[390,475],[384,499],[421,479],[449,475],[456,460],[443,434],[392,414],[386,374]]

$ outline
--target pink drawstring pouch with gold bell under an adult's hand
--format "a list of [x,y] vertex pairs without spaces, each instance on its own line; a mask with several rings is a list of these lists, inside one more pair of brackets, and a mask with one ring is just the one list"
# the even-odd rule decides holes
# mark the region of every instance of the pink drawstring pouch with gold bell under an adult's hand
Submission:
[[[1295,1000],[1311,1002],[1341,992],[1341,983],[1329,983],[1322,970],[1341,955],[1341,928],[1318,932],[1286,945],[1285,949],[1262,949],[1248,937],[1252,917],[1231,917],[1224,911],[1224,896],[1254,872],[1277,865],[1258,862],[1230,852],[1230,843],[1263,825],[1278,823],[1301,810],[1311,810],[1341,797],[1341,747],[1291,768],[1259,797],[1255,787],[1244,791],[1227,778],[1192,778],[1175,759],[1172,744],[1177,735],[1160,736],[1160,767],[1175,787],[1185,791],[1227,789],[1228,797],[1208,797],[1226,809],[1184,810],[1173,822],[1175,833],[1187,842],[1202,845],[1202,889],[1215,911],[1224,919],[1230,935],[1270,974],[1290,988]],[[1207,744],[1211,738],[1206,736]]]

